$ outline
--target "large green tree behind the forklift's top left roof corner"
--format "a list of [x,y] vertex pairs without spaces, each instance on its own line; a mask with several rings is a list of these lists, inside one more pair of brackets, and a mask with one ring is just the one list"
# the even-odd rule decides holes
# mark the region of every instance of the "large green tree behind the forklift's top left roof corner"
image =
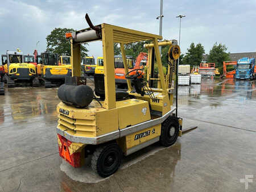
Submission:
[[[66,39],[67,32],[73,32],[72,28],[55,28],[50,35],[47,35],[47,49],[46,51],[54,52],[59,55],[71,55],[71,45]],[[87,56],[88,49],[81,44],[81,57]]]

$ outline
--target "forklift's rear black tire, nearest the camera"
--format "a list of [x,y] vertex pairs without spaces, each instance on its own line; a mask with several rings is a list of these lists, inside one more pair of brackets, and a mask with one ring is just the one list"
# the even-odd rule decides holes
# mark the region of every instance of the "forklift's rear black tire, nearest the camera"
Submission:
[[94,172],[101,177],[109,177],[117,171],[122,160],[122,150],[116,143],[96,148],[91,165]]

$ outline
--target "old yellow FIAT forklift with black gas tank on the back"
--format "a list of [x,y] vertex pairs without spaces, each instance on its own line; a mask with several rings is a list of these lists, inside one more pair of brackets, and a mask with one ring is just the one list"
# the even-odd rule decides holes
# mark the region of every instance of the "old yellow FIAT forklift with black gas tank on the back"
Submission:
[[[182,119],[177,117],[177,108],[171,107],[175,93],[172,80],[175,73],[177,78],[180,48],[172,41],[158,43],[162,39],[159,35],[105,23],[93,26],[88,14],[85,19],[89,28],[66,34],[71,41],[72,77],[66,78],[58,90],[61,100],[57,105],[56,128],[59,155],[75,168],[84,165],[85,158],[92,155],[92,169],[101,177],[108,177],[118,170],[123,155],[158,141],[167,147],[181,136]],[[95,89],[104,90],[104,97],[94,96],[91,87],[78,81],[80,44],[94,40],[102,41],[104,76],[96,79]],[[139,78],[142,69],[134,69],[135,74],[128,70],[124,45],[146,40],[152,43],[146,45],[149,68],[147,81],[143,82],[143,78]],[[121,47],[127,91],[115,90],[114,43]],[[166,44],[170,49],[165,78],[159,45]],[[157,77],[154,77],[154,65],[159,69]]]

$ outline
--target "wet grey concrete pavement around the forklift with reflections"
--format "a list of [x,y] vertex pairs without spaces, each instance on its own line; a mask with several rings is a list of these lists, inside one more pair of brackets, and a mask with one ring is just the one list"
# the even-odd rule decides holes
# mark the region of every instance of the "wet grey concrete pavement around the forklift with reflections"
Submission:
[[[183,127],[198,128],[125,157],[102,179],[89,162],[74,169],[59,157],[57,88],[9,89],[0,96],[0,191],[256,191],[256,81],[204,80],[179,95]],[[254,175],[247,190],[245,175]]]

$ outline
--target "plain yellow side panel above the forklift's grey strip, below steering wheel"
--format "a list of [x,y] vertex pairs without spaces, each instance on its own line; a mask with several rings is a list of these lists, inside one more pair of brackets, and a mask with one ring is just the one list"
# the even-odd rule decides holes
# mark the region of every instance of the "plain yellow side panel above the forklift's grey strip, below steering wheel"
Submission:
[[120,129],[151,119],[148,102],[139,99],[118,101],[117,111]]

